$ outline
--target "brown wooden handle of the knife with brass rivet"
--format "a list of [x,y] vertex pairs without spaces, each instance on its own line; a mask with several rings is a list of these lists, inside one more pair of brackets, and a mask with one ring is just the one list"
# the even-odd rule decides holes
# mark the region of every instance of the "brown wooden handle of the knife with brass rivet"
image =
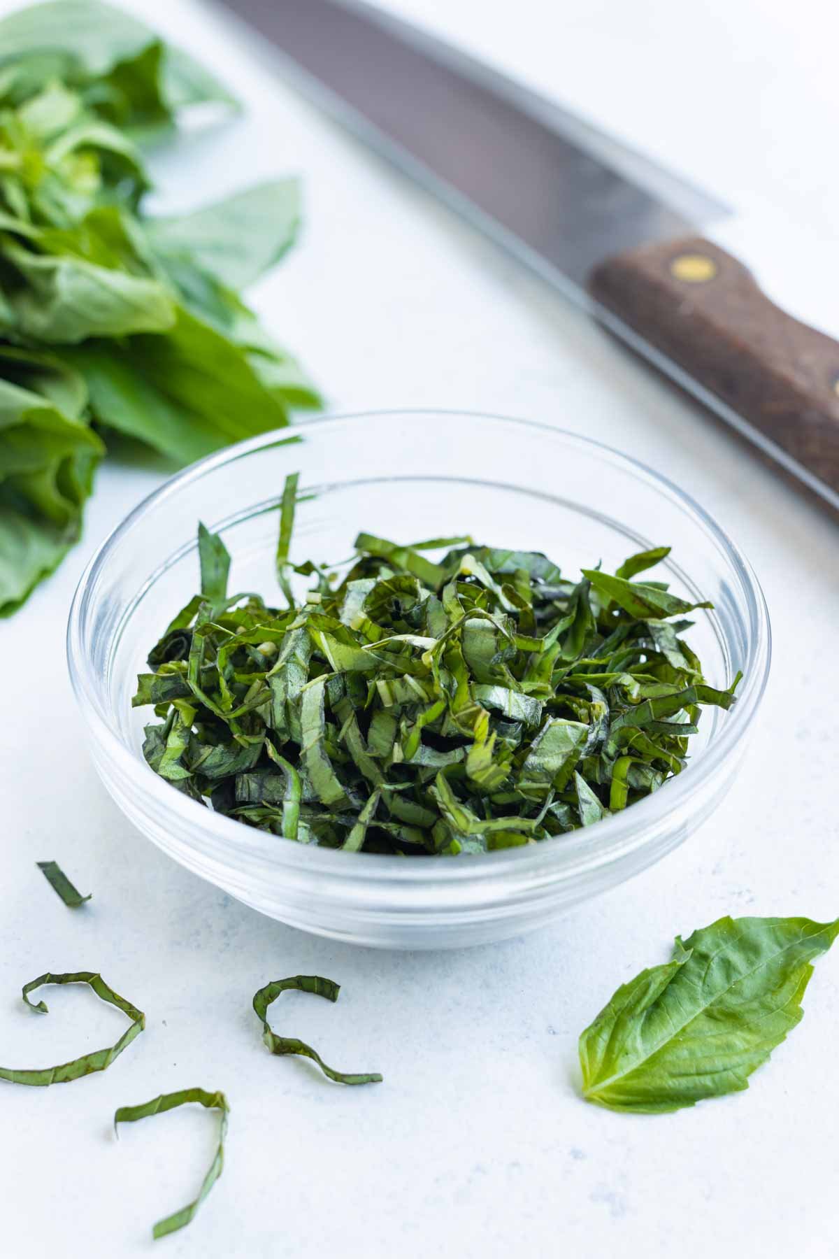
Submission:
[[775,306],[708,240],[608,258],[591,295],[839,492],[839,341]]

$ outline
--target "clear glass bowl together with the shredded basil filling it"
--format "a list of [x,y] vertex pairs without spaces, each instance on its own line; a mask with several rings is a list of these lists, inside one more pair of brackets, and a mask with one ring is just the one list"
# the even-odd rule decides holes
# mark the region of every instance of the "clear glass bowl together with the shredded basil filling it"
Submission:
[[634,460],[382,412],[169,481],[91,562],[68,652],[97,769],[160,847],[304,930],[439,948],[687,838],[770,631],[736,546]]

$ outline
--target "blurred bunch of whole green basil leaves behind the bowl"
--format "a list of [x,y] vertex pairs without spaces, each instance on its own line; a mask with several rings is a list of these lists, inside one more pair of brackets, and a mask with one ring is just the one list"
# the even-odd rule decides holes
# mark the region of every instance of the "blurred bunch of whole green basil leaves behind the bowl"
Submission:
[[234,104],[96,0],[0,21],[0,614],[77,541],[116,434],[190,462],[318,397],[238,290],[294,238],[293,179],[143,217],[141,145]]

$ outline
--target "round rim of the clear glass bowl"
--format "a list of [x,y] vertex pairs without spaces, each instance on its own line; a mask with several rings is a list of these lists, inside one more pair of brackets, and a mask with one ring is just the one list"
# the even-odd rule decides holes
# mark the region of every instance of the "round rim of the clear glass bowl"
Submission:
[[[694,522],[711,536],[736,573],[745,596],[748,614],[748,642],[753,658],[738,690],[737,703],[725,714],[720,737],[703,752],[696,767],[689,767],[683,774],[668,779],[662,791],[638,801],[630,808],[613,813],[594,827],[557,836],[555,844],[545,842],[486,852],[474,860],[404,861],[396,860],[389,854],[347,854],[340,849],[284,841],[282,836],[268,835],[255,827],[244,826],[242,822],[215,813],[210,808],[203,808],[203,816],[199,818],[195,811],[203,806],[181,792],[172,791],[169,783],[150,772],[145,762],[122,742],[119,735],[114,733],[106,715],[107,708],[102,701],[106,677],[94,675],[83,648],[83,624],[88,603],[121,539],[156,506],[175,496],[182,486],[201,480],[219,467],[234,463],[262,449],[301,439],[306,441],[307,433],[311,434],[316,429],[350,422],[364,423],[369,418],[387,415],[444,417],[449,421],[479,419],[483,423],[507,426],[513,431],[523,428],[541,432],[551,441],[582,447],[621,467],[635,480],[640,478],[652,483],[686,515],[693,517]],[[764,592],[750,562],[737,544],[689,494],[669,477],[650,468],[634,456],[625,454],[596,438],[541,421],[453,408],[384,407],[371,410],[327,413],[287,428],[272,429],[247,438],[197,460],[146,495],[111,530],[79,578],[67,624],[67,658],[72,687],[82,716],[104,754],[122,771],[125,779],[131,783],[132,791],[138,796],[151,798],[156,812],[180,815],[184,823],[182,830],[187,831],[190,836],[189,846],[215,861],[226,862],[230,857],[242,855],[278,869],[284,867],[289,872],[308,870],[317,872],[326,880],[347,884],[364,883],[371,888],[396,884],[401,886],[433,884],[439,889],[440,885],[455,888],[462,886],[463,883],[496,883],[498,879],[507,879],[514,869],[531,886],[545,886],[581,870],[611,865],[633,851],[644,849],[654,838],[657,823],[663,822],[681,805],[698,794],[713,774],[722,772],[723,762],[742,740],[764,696],[771,663],[771,626]]]

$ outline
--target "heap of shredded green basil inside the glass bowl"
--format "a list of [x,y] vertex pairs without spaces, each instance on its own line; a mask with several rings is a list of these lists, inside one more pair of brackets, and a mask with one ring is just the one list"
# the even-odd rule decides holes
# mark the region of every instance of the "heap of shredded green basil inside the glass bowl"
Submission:
[[536,844],[662,788],[702,709],[735,703],[740,674],[709,686],[683,637],[711,604],[630,579],[667,546],[566,578],[538,551],[360,534],[341,577],[292,563],[296,499],[293,476],[277,549],[289,606],[229,597],[226,549],[201,526],[201,593],[137,679],[133,704],[161,719],[146,760],[218,812],[352,852]]

